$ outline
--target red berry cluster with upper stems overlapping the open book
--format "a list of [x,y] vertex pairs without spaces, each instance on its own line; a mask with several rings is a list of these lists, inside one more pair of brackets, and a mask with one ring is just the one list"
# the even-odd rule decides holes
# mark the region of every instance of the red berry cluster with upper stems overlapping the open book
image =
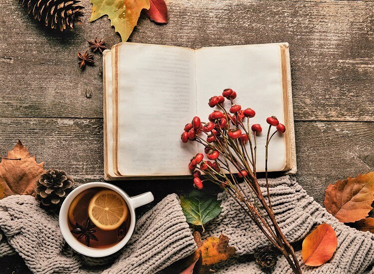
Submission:
[[[197,141],[201,143],[205,147],[204,153],[208,158],[204,161],[204,155],[197,153],[188,164],[189,170],[193,172],[193,183],[197,189],[202,189],[202,183],[205,181],[200,179],[201,172],[209,175],[206,176],[206,180],[219,183],[223,188],[232,186],[233,182],[230,182],[232,180],[228,180],[224,175],[233,173],[228,167],[228,162],[234,164],[237,168],[235,174],[240,178],[247,177],[249,173],[250,175],[255,173],[256,148],[252,145],[250,130],[253,131],[254,142],[256,142],[256,134],[262,132],[262,127],[259,124],[249,126],[249,119],[253,118],[256,112],[251,108],[242,109],[241,105],[235,104],[233,100],[236,96],[235,91],[227,88],[223,90],[222,95],[211,97],[208,105],[211,108],[217,107],[217,109],[209,114],[208,121],[201,122],[200,118],[195,116],[184,128],[181,136],[182,142]],[[224,107],[226,100],[231,103],[228,111]],[[275,116],[268,117],[266,122],[270,125],[269,132],[272,126],[276,127],[275,132],[284,133],[286,131],[285,126],[279,123]],[[267,144],[271,137],[268,136]],[[250,144],[251,157],[247,152],[247,143]],[[234,157],[232,151],[236,153],[237,157]],[[251,169],[249,165],[252,166]]]

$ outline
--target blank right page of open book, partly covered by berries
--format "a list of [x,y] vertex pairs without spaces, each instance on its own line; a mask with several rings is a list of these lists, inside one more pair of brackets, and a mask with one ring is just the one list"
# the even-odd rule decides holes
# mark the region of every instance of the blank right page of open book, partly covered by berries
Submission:
[[[212,112],[208,106],[210,97],[221,95],[225,88],[236,91],[234,103],[242,109],[255,110],[250,124],[262,126],[262,133],[257,136],[258,172],[265,171],[266,118],[275,115],[284,123],[280,54],[279,44],[206,47],[195,52],[198,116],[207,120]],[[226,109],[230,104],[226,100]],[[274,131],[273,128],[271,133]],[[282,171],[285,167],[285,135],[277,133],[269,144],[268,170]]]

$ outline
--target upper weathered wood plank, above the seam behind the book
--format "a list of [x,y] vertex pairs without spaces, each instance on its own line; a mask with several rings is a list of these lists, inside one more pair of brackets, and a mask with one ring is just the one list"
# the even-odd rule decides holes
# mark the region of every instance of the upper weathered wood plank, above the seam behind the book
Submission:
[[[96,36],[109,45],[119,36],[106,18],[89,23],[91,5],[83,3],[84,23],[60,34],[35,24],[15,0],[0,2],[0,116],[102,117],[101,60],[80,72],[76,51]],[[167,3],[169,24],[141,16],[131,41],[189,47],[288,41],[295,119],[373,121],[373,1]]]

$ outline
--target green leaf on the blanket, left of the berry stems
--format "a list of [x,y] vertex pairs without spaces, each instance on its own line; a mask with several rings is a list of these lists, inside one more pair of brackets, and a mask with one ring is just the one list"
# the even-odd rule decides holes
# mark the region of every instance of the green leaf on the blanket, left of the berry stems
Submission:
[[188,196],[181,196],[181,206],[187,223],[201,226],[217,217],[221,213],[221,201],[217,195],[209,195],[203,191],[193,190]]

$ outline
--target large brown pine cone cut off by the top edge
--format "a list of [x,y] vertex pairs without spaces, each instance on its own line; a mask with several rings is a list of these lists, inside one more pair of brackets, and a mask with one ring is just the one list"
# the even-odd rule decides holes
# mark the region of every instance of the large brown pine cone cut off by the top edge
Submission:
[[83,6],[79,0],[18,0],[27,12],[36,20],[53,29],[73,29],[75,23],[81,23]]

